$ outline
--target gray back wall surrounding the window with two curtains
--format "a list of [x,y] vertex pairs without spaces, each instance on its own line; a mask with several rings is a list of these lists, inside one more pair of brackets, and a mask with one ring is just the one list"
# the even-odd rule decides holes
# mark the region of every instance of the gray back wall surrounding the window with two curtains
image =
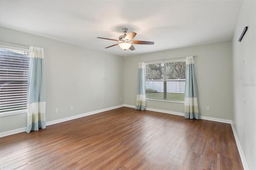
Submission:
[[[177,57],[194,57],[201,116],[232,119],[232,42],[211,43],[128,56],[124,59],[124,103],[135,105],[138,63]],[[206,111],[206,107],[210,111]],[[183,103],[146,100],[146,107],[184,113]]]

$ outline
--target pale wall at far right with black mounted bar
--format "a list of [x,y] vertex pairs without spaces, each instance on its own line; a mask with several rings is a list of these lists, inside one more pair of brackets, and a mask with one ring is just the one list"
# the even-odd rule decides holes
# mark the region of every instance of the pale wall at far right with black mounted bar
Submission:
[[[256,1],[244,1],[233,36],[233,123],[250,170],[256,170],[255,25]],[[248,26],[248,31],[242,41],[238,42],[245,26]],[[244,105],[244,99],[246,99],[246,105]]]

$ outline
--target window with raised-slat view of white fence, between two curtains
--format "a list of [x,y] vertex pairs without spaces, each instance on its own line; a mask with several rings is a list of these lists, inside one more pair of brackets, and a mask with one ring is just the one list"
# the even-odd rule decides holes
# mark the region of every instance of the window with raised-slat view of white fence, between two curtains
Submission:
[[146,99],[184,102],[186,61],[148,63]]

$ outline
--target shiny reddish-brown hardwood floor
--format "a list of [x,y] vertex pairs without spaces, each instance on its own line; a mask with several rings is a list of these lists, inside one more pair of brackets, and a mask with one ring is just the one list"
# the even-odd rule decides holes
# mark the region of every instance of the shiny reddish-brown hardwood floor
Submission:
[[0,138],[1,169],[242,170],[230,124],[122,107]]

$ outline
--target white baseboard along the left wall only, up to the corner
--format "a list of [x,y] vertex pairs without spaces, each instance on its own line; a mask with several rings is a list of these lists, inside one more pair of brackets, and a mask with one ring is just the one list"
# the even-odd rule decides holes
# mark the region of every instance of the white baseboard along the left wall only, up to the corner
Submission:
[[[71,117],[65,117],[63,119],[58,119],[58,120],[55,120],[55,121],[49,121],[49,122],[46,122],[46,125],[54,125],[56,123],[61,123],[61,122],[65,122],[65,121],[70,121],[70,120],[73,120],[73,119],[77,119],[77,118],[80,118],[80,117],[85,117],[85,116],[89,116],[89,115],[94,115],[96,113],[101,113],[101,112],[104,112],[104,111],[109,111],[109,110],[112,110],[112,109],[117,109],[117,108],[120,108],[120,107],[124,107],[124,105],[119,105],[119,106],[114,106],[114,107],[108,107],[106,109],[100,109],[100,110],[97,110],[97,111],[92,111],[92,112],[88,112],[88,113],[83,113],[83,114],[80,114],[80,115],[75,115],[75,116],[71,116]],[[9,135],[12,135],[12,134],[16,134],[16,133],[20,133],[20,132],[25,132],[26,130],[26,127],[23,127],[23,128],[18,128],[18,129],[14,129],[14,130],[9,130],[9,131],[6,131],[6,132],[0,132],[0,138],[4,137],[4,136],[9,136]]]

